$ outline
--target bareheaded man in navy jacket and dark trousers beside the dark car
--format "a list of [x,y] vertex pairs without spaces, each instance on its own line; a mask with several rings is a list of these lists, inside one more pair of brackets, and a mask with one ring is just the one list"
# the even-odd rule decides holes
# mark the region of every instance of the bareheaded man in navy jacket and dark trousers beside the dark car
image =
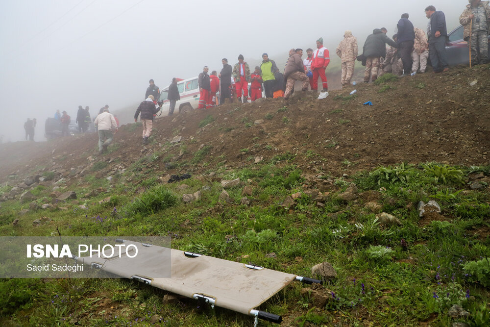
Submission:
[[429,57],[434,73],[447,72],[449,65],[446,54],[446,17],[442,11],[436,11],[436,7],[425,8],[425,16],[429,19],[427,36],[429,39]]

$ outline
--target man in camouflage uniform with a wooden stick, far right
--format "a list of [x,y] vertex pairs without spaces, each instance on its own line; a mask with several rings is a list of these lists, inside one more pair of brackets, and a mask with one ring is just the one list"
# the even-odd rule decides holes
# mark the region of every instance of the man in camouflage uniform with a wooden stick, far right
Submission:
[[460,23],[465,26],[463,38],[471,46],[471,63],[475,65],[488,63],[489,2],[469,0],[469,4],[460,16]]

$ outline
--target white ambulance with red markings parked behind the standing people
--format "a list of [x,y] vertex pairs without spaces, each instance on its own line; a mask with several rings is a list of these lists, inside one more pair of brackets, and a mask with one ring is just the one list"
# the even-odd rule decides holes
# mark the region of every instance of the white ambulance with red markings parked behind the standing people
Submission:
[[[175,103],[175,112],[183,115],[189,115],[199,104],[199,85],[197,76],[187,79],[177,78],[177,89],[179,90],[180,100]],[[169,87],[160,91],[160,101],[163,101],[161,113],[158,115],[167,116],[169,114],[170,100]]]

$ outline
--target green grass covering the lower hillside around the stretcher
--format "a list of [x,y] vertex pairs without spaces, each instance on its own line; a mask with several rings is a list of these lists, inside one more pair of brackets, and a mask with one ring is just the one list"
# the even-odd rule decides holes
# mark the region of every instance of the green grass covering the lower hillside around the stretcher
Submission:
[[[210,152],[204,149],[195,153],[200,159]],[[317,153],[305,151],[298,161],[305,157],[316,158]],[[259,165],[217,171],[222,179],[240,177],[252,187],[252,195],[247,196],[250,206],[240,204],[243,187],[229,189],[233,202],[225,203],[218,201],[222,191],[218,181],[190,178],[156,184],[159,175],[145,172],[145,177],[138,175],[143,179],[140,184],[118,183],[109,194],[87,201],[88,209],[66,203],[69,210],[49,211],[53,223],[39,227],[31,224],[38,213],[19,217],[17,212],[23,208],[19,201],[3,201],[0,235],[49,236],[56,233],[55,224],[63,236],[171,236],[174,249],[306,277],[314,277],[313,265],[330,262],[338,276],[325,285],[329,300],[324,307],[318,307],[308,293],[301,295],[307,285],[297,282],[261,306],[261,310],[287,316],[291,325],[342,322],[362,326],[367,320],[374,326],[420,326],[428,321],[431,326],[451,326],[454,321],[489,326],[490,195],[469,190],[466,184],[468,174],[488,175],[486,166],[433,162],[379,166],[346,178],[331,177],[334,186],[323,195],[324,207],[303,194],[286,211],[281,203],[287,197],[319,183],[305,179],[304,174],[311,173],[301,170],[303,162],[295,166],[295,160],[295,153],[278,153]],[[342,164],[354,166],[346,158]],[[328,172],[322,175],[329,176]],[[338,195],[351,180],[359,197],[342,201]],[[85,182],[93,187],[97,179],[86,176]],[[182,183],[189,188],[177,191],[176,184]],[[211,189],[202,192],[200,201],[184,204],[179,200],[177,194],[194,193],[204,185]],[[147,189],[135,195],[136,188]],[[42,195],[48,189],[39,191]],[[110,202],[98,204],[97,200],[109,195]],[[418,201],[429,200],[440,203],[443,219],[418,217]],[[377,202],[401,225],[380,224],[376,214],[365,208],[368,201]],[[16,218],[19,225],[13,226]],[[268,257],[270,252],[277,257]],[[174,326],[175,321],[179,326],[248,326],[252,322],[249,316],[218,307],[197,309],[200,304],[191,299],[162,304],[165,294],[125,279],[4,278],[0,279],[0,320],[7,326],[71,326],[75,321],[81,326],[130,326],[136,321],[146,326],[157,314],[167,320],[163,326]],[[461,305],[469,316],[451,319],[448,311],[453,304]]]

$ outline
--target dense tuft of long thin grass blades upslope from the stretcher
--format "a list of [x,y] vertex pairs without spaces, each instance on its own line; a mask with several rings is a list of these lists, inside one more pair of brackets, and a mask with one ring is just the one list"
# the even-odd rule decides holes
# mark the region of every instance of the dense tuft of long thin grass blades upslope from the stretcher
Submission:
[[133,213],[153,214],[159,210],[171,207],[177,202],[177,197],[165,186],[158,185],[150,188],[130,205],[129,211]]

